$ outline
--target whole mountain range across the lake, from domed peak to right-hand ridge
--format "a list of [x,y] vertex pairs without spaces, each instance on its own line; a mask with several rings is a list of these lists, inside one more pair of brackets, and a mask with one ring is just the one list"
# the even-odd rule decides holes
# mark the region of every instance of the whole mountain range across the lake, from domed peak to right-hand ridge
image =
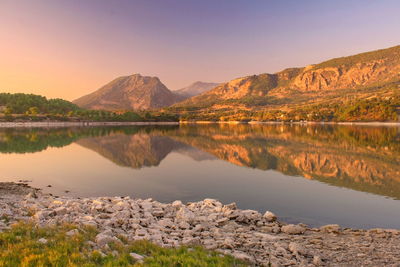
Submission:
[[368,117],[368,114],[361,117],[357,113],[361,111],[353,115],[346,113],[346,120],[391,120],[396,115],[384,114],[396,114],[393,107],[394,110],[400,109],[396,104],[399,102],[399,73],[400,46],[396,46],[307,67],[289,68],[274,74],[246,76],[223,84],[195,82],[177,91],[170,91],[157,77],[134,74],[117,78],[73,103],[87,109],[148,110],[168,107],[169,112],[216,114],[205,119],[218,119],[225,114],[236,116],[228,116],[229,120],[237,119],[239,113],[244,112],[248,116],[248,112],[252,112],[251,116],[254,116],[264,111],[279,114],[272,118],[266,115],[261,119],[276,120],[295,110],[303,113],[297,119],[300,120],[310,113],[310,107],[315,109],[314,113],[318,113],[321,107],[322,111],[324,107],[329,107],[324,115],[324,119],[329,119],[330,114],[336,113],[343,104],[351,107],[356,100],[378,98],[374,103],[377,109],[381,100],[389,99],[392,101],[391,110],[367,111],[380,112],[375,117]]

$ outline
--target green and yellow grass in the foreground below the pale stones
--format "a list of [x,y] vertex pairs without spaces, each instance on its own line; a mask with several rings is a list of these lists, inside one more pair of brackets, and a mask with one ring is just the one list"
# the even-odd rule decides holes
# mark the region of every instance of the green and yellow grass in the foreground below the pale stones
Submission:
[[[246,266],[230,256],[200,247],[162,248],[148,241],[109,244],[107,253],[93,250],[96,230],[73,225],[37,227],[19,223],[0,233],[0,266]],[[45,240],[40,242],[39,240]],[[144,256],[142,262],[129,253]]]

